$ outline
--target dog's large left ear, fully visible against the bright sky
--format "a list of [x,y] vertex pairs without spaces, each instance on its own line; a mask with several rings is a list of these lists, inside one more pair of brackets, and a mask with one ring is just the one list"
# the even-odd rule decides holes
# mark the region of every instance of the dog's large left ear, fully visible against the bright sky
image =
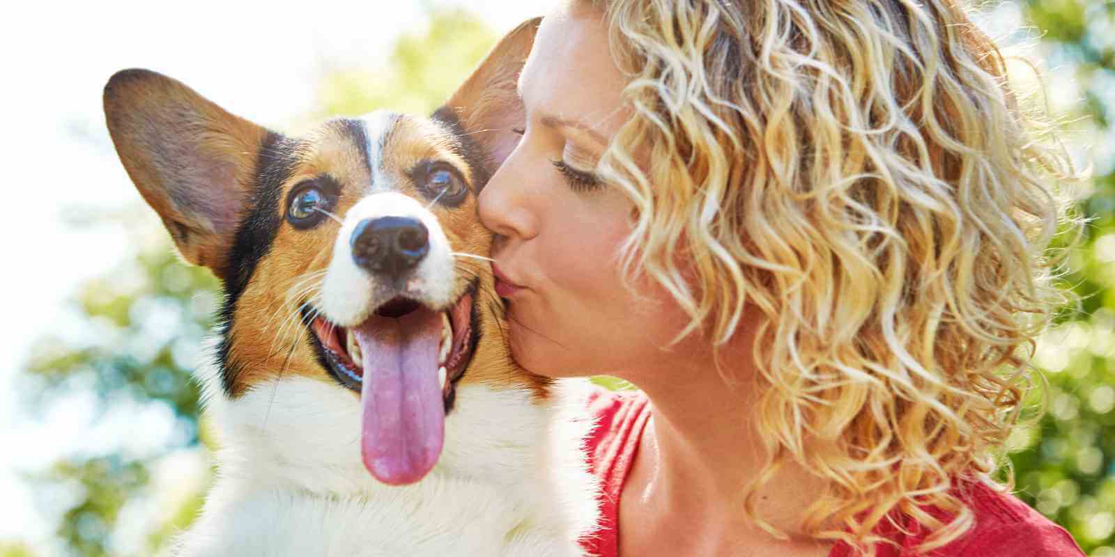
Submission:
[[221,278],[268,130],[154,71],[105,86],[116,153],[186,261]]

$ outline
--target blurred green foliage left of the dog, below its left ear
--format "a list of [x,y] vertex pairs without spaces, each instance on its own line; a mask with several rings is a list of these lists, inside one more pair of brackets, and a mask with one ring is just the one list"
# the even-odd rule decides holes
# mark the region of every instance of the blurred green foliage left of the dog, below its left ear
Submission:
[[[149,235],[152,221],[128,225],[143,237],[140,231]],[[213,325],[216,287],[209,272],[183,264],[161,235],[81,290],[74,304],[87,334],[78,340],[49,336],[32,350],[28,372],[39,379],[37,405],[83,390],[98,395],[103,411],[122,403],[165,407],[176,422],[174,434],[155,453],[109,447],[104,455],[71,456],[30,478],[40,489],[74,494],[57,527],[71,553],[116,555],[113,529],[122,508],[146,495],[151,466],[167,452],[198,443],[198,388],[191,370]]]

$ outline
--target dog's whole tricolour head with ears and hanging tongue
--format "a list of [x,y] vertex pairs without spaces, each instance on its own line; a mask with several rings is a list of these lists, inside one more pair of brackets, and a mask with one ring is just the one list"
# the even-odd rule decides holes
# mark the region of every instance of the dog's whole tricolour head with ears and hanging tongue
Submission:
[[306,137],[158,74],[113,76],[105,113],[128,175],[182,255],[224,282],[222,397],[269,385],[281,399],[282,381],[307,379],[347,393],[363,465],[387,483],[434,467],[463,385],[545,397],[510,360],[476,216],[516,139],[536,27],[505,37],[432,118],[376,111]]

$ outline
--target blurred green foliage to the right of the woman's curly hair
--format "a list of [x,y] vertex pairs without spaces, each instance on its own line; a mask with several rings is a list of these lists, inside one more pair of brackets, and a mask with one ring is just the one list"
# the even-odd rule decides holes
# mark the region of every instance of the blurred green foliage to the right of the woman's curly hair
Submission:
[[[1082,297],[1039,343],[1049,379],[1048,412],[1012,436],[1018,495],[1065,526],[1094,557],[1115,557],[1115,3],[1021,2],[1041,40],[1047,82],[1083,91],[1067,118],[1095,144],[1095,177],[1079,211],[1090,225],[1069,257],[1064,284]],[[1075,84],[1075,86],[1074,86]]]

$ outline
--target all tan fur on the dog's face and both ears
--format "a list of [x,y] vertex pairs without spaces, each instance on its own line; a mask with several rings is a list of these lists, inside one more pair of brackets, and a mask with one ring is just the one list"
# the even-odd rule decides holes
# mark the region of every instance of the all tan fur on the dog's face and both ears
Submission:
[[[515,79],[539,22],[540,19],[527,21],[508,33],[447,104],[469,136],[484,147],[493,165],[510,153],[515,140],[511,128],[522,124],[522,109],[514,108],[520,104]],[[173,79],[143,70],[127,70],[113,78],[105,90],[105,111],[129,176],[163,218],[183,256],[226,278],[223,254],[231,248],[235,224],[242,216],[240,208],[233,214],[236,221],[213,222],[175,203],[175,187],[183,186],[181,179],[177,184],[172,180],[175,172],[186,173],[187,177],[205,184],[191,186],[194,193],[203,188],[227,188],[232,192],[229,204],[240,207],[254,178],[256,154],[266,130],[221,109]],[[167,134],[167,129],[175,133]],[[302,138],[303,147],[291,178],[282,185],[277,211],[287,211],[288,195],[293,187],[322,175],[330,176],[341,186],[341,195],[333,207],[333,213],[341,217],[374,187],[397,190],[421,201],[425,198],[410,183],[409,170],[424,160],[448,163],[465,178],[473,194],[458,207],[449,209],[435,204],[430,209],[440,221],[455,252],[487,256],[491,233],[476,217],[475,194],[481,185],[472,183],[478,169],[469,168],[457,155],[454,139],[438,124],[408,116],[399,117],[387,137],[387,145],[379,152],[381,167],[369,174],[360,146],[338,123],[328,121],[312,129]],[[372,140],[376,139],[369,138]],[[194,157],[201,162],[194,164],[209,174],[195,176],[192,169],[184,170],[178,163],[178,152],[201,154]],[[191,162],[187,157],[186,163]],[[492,169],[494,167],[488,172]],[[225,178],[226,183],[211,184],[202,179],[212,180],[211,174]],[[377,177],[388,183],[374,184]],[[213,212],[220,213],[221,208]],[[256,264],[234,309],[227,358],[235,370],[231,384],[233,397],[242,395],[252,385],[277,374],[333,382],[319,365],[309,342],[311,333],[299,321],[298,311],[303,302],[311,301],[314,286],[320,287],[320,276],[316,274],[323,273],[329,264],[338,226],[332,221],[324,221],[308,231],[279,227],[271,250]],[[547,381],[517,368],[511,360],[504,339],[503,311],[488,264],[462,257],[456,265],[460,276],[455,296],[463,294],[469,281],[476,277],[479,286],[476,304],[484,314],[482,341],[462,382],[520,385],[532,389],[540,398],[545,397]]]

